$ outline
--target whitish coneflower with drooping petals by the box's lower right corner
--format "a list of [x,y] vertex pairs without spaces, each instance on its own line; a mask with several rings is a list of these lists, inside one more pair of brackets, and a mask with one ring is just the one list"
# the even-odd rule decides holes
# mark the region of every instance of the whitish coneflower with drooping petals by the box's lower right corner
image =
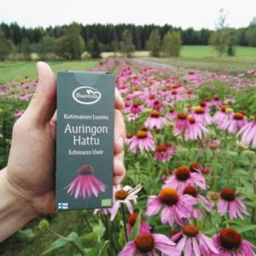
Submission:
[[121,204],[125,204],[128,211],[133,213],[133,207],[131,205],[131,201],[137,203],[137,193],[142,189],[141,185],[137,185],[135,188],[131,188],[130,186],[125,186],[121,189],[120,185],[113,187],[113,207],[109,210],[111,213],[110,220],[116,216],[118,209]]

